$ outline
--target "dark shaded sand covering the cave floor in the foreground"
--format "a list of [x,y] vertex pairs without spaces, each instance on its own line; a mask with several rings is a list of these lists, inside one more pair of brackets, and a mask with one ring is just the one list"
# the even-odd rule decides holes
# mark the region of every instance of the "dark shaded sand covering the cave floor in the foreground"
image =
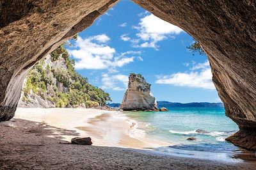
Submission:
[[[54,133],[53,133],[54,132]],[[55,134],[58,132],[58,134]],[[0,123],[0,169],[255,169],[254,162],[213,162],[147,150],[65,144],[74,130],[14,119]],[[54,137],[48,137],[54,136]]]

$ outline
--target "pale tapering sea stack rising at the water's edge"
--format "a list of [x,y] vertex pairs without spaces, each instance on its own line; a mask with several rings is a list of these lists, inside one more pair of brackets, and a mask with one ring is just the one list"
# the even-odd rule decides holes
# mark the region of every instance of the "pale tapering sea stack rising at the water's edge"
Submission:
[[158,111],[156,98],[150,92],[151,84],[141,74],[130,73],[120,109],[124,111]]

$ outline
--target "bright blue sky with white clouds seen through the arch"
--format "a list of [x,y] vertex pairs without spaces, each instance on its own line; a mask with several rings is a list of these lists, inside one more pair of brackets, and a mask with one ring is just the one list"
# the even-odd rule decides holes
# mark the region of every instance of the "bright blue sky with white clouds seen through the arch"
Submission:
[[220,102],[206,56],[186,49],[193,38],[131,1],[120,1],[78,36],[68,47],[77,72],[113,102],[122,102],[129,73],[141,73],[157,101]]

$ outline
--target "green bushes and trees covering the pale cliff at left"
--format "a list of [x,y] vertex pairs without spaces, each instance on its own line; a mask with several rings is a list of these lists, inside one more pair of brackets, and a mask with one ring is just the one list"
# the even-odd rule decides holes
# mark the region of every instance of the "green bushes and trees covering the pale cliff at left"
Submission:
[[[76,72],[75,61],[70,59],[64,45],[60,45],[50,55],[49,63],[41,59],[28,73],[22,89],[23,102],[29,102],[28,96],[32,93],[54,103],[56,107],[79,107],[81,104],[86,107],[97,107],[111,101],[109,93],[92,86],[87,78]],[[54,63],[57,61],[63,61],[67,68],[55,66]]]

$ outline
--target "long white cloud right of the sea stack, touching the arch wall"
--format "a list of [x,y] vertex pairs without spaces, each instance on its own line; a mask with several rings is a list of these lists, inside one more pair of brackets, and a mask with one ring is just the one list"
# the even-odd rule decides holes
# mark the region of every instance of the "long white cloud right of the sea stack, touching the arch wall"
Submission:
[[190,72],[178,72],[172,75],[159,76],[156,83],[191,88],[215,89],[212,83],[212,73],[208,61],[193,65]]

